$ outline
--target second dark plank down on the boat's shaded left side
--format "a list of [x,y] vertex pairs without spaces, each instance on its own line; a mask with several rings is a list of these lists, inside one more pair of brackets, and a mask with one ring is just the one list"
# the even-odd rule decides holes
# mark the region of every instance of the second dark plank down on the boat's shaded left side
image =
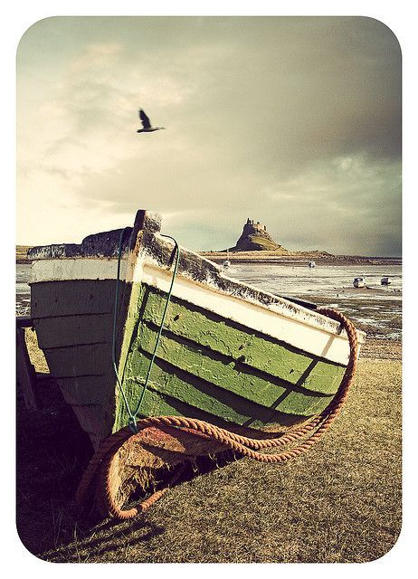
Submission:
[[46,349],[109,342],[112,332],[113,315],[110,313],[36,320],[38,344]]

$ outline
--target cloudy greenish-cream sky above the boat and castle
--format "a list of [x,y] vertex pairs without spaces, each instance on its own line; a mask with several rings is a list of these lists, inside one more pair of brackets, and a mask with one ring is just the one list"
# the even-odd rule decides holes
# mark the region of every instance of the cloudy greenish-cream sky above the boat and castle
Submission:
[[[73,17],[17,50],[17,239],[401,254],[401,49],[367,17]],[[166,130],[138,134],[138,108]]]

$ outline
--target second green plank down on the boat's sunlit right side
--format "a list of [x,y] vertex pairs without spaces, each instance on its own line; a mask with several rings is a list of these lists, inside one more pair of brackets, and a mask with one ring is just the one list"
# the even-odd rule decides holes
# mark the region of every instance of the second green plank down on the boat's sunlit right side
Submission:
[[[141,351],[136,351],[134,347],[128,360],[127,376],[141,376],[142,351],[152,354],[156,338],[157,332],[141,325],[138,331],[138,347]],[[310,416],[322,412],[333,398],[333,395],[318,395],[299,390],[289,383],[280,384],[271,376],[254,373],[251,368],[234,360],[208,353],[200,346],[181,343],[165,335],[160,339],[157,357],[187,372],[192,381],[203,379],[249,401],[283,413]]]

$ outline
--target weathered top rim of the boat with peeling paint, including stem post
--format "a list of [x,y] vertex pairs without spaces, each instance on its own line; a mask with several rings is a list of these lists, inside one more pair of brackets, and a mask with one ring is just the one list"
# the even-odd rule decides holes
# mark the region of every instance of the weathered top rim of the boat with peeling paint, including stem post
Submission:
[[[70,243],[66,245],[51,244],[45,246],[37,246],[31,250],[31,257],[33,258],[33,266],[40,261],[65,261],[65,260],[93,260],[93,261],[107,261],[118,259],[119,242],[121,244],[121,261],[124,262],[124,269],[121,279],[126,282],[138,280],[138,265],[141,267],[141,261],[154,262],[157,268],[169,271],[171,268],[171,261],[173,259],[173,252],[175,250],[175,242],[173,238],[167,239],[161,231],[161,215],[156,212],[147,210],[138,210],[133,227],[126,227],[125,229],[116,229],[108,232],[94,233],[85,237],[82,242],[77,245]],[[129,237],[125,237],[124,233],[129,233]],[[66,247],[69,248],[69,256],[65,257]],[[54,248],[59,247],[63,253],[61,256],[53,257]],[[210,261],[204,256],[196,252],[192,252],[184,247],[179,247],[180,260],[178,262],[177,275],[185,279],[191,279],[194,283],[200,284],[205,289],[214,289],[216,292],[223,295],[237,298],[246,302],[255,303],[257,306],[274,311],[279,315],[289,316],[289,313],[302,314],[304,318],[315,320],[316,324],[320,326],[327,325],[333,335],[338,335],[340,325],[334,319],[320,314],[318,311],[309,309],[305,306],[292,302],[290,299],[283,298],[272,294],[269,291],[258,289],[251,284],[244,283],[239,280],[234,280],[228,276],[223,275],[223,268],[214,261]],[[139,262],[139,263],[138,263]],[[167,265],[168,264],[168,265]],[[108,279],[115,279],[116,272]],[[137,279],[136,279],[137,278]],[[92,278],[94,279],[94,278]],[[41,280],[38,280],[40,282]],[[51,280],[52,281],[52,280]],[[201,283],[202,281],[202,283]],[[271,308],[280,306],[286,311],[281,313]],[[306,323],[306,319],[303,320]],[[308,322],[309,323],[309,322]],[[316,326],[314,324],[314,326]],[[360,343],[364,342],[366,334],[361,330],[357,331],[357,338]]]

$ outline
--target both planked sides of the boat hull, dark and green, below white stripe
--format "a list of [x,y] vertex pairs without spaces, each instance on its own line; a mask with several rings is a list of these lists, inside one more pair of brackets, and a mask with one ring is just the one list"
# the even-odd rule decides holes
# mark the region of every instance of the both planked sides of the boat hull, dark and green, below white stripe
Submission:
[[[94,439],[128,423],[111,363],[115,284],[69,280],[32,289],[39,344],[64,398]],[[165,303],[158,289],[122,284],[117,355],[131,410],[144,388]],[[138,416],[185,415],[280,432],[324,410],[344,370],[172,298]]]

